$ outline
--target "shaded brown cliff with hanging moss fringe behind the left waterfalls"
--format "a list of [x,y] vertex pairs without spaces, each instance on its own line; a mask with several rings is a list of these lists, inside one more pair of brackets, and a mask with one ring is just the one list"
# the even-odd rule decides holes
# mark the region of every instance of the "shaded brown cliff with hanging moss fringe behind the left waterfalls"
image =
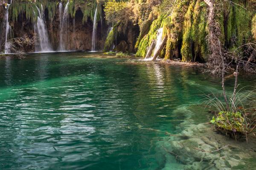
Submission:
[[[12,37],[21,37],[23,34],[29,34],[32,37],[35,34],[35,23],[38,20],[38,12],[42,10],[49,35],[49,42],[53,50],[58,50],[61,15],[63,15],[67,2],[68,0],[13,0],[8,9]],[[60,3],[62,5],[62,11],[60,11]],[[108,29],[104,20],[103,3],[103,1],[99,0],[69,0],[67,5],[68,18],[65,26],[67,27],[65,31],[67,38],[64,42],[67,50],[91,49],[93,19],[96,8],[98,8],[96,15],[96,48],[103,48]],[[1,6],[1,23],[4,22],[5,13],[6,9],[4,9],[4,6]],[[1,28],[1,32],[4,31],[5,28]],[[1,39],[1,43],[3,43],[3,38]],[[26,51],[34,51],[34,49],[26,49]]]

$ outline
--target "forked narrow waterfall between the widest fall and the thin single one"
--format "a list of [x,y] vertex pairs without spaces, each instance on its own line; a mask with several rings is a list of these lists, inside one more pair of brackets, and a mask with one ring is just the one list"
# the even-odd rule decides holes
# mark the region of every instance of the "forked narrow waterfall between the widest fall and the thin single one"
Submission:
[[[65,33],[65,31],[68,28],[68,4],[70,2],[68,1],[65,8],[64,8],[64,13],[63,13],[63,17],[60,20],[60,26],[61,26],[61,31],[60,31],[60,44],[59,44],[59,50],[60,51],[64,51],[66,50],[65,47],[65,42],[64,42],[64,36],[66,36],[67,39],[67,34]],[[62,4],[60,3],[59,6],[59,10],[60,10],[60,15],[61,15],[61,11],[62,11]]]

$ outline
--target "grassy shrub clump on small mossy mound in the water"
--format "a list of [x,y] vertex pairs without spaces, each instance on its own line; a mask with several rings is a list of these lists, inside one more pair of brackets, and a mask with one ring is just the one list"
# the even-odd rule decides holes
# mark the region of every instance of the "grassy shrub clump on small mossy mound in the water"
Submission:
[[[247,135],[254,133],[256,127],[256,113],[255,105],[256,96],[254,91],[242,91],[241,88],[236,94],[228,96],[229,107],[226,108],[222,102],[215,95],[204,95],[207,99],[207,105],[213,106],[218,114],[212,117],[210,121],[216,128],[224,130],[226,134],[229,132],[236,139],[236,134]],[[235,95],[235,96],[234,96]]]

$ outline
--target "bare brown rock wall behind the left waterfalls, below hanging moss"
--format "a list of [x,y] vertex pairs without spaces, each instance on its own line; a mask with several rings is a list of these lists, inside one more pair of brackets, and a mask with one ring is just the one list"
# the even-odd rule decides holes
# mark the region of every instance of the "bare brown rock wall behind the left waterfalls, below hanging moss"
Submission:
[[[3,10],[2,10],[3,9]],[[0,1],[0,32],[4,33],[4,16],[5,10]],[[58,10],[52,20],[48,18],[48,10],[44,11],[45,23],[49,36],[49,42],[54,51],[58,51],[60,47],[60,30],[61,22],[59,19]],[[93,34],[93,21],[88,18],[86,23],[82,23],[83,13],[81,10],[76,11],[74,18],[69,16],[68,23],[64,31],[64,46],[65,50],[85,50],[90,51],[92,47],[92,34]],[[3,24],[2,24],[3,23]],[[13,37],[22,37],[28,34],[32,37],[34,34],[34,25],[30,20],[26,20],[26,14],[20,14],[17,21],[10,21],[12,26]],[[96,50],[100,51],[104,47],[105,39],[107,36],[108,26],[105,20],[97,22],[96,31]],[[4,33],[5,34],[5,33]],[[4,34],[0,35],[0,42],[3,42]],[[35,51],[34,47],[26,47],[26,52]]]

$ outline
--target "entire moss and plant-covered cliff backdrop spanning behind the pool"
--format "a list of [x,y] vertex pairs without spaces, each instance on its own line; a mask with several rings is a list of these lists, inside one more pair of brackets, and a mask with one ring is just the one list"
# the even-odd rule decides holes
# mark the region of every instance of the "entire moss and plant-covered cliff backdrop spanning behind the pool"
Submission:
[[[97,8],[98,50],[136,52],[137,56],[145,57],[147,48],[157,38],[157,31],[163,28],[162,39],[166,37],[166,43],[160,51],[161,58],[205,62],[212,52],[207,41],[210,30],[207,23],[209,7],[204,0],[37,0],[35,3],[13,0],[9,8],[12,37],[21,37],[25,33],[32,36],[35,33],[33,25],[38,20],[38,12],[42,10],[49,41],[52,48],[57,50],[61,34],[60,17],[63,15],[60,3],[63,8],[67,5],[65,34],[68,35],[65,41],[73,42],[66,44],[67,50],[91,48]],[[216,0],[214,12],[224,49],[233,51],[255,41],[255,0]],[[1,23],[4,22],[4,14],[5,10],[1,10]],[[2,43],[3,39],[2,35]],[[245,45],[240,50],[247,51],[247,48]],[[34,49],[27,47],[25,50]]]

